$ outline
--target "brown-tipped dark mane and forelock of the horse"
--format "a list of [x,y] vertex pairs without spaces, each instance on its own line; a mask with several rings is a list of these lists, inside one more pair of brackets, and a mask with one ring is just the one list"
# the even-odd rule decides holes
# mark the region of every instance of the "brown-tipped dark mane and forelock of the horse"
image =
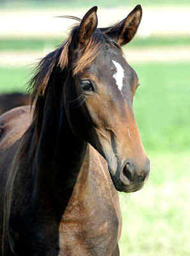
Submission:
[[[50,77],[53,74],[57,76],[62,72],[61,79],[65,81],[63,83],[66,85],[68,76],[74,77],[89,66],[106,42],[110,42],[113,45],[112,41],[100,29],[94,31],[87,45],[80,45],[78,44],[78,29],[79,26],[71,29],[68,39],[62,42],[55,51],[50,52],[41,59],[36,65],[34,76],[29,81],[28,90],[32,93],[31,106],[34,106],[33,125],[37,140],[41,131],[47,88],[56,86],[55,83],[49,83]],[[54,96],[52,95],[52,97]]]

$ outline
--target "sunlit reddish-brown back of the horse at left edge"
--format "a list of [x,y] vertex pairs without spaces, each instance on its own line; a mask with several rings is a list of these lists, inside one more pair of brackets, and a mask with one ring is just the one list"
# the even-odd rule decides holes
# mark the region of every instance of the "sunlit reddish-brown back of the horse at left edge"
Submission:
[[20,138],[31,124],[29,106],[11,109],[0,116],[0,211],[4,190]]

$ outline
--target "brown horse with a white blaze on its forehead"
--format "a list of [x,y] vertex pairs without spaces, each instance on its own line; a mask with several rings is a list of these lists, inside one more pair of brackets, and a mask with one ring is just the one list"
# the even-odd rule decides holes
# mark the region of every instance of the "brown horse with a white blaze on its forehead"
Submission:
[[132,109],[138,77],[121,49],[142,8],[99,29],[96,11],[39,63],[34,107],[0,118],[3,256],[119,255],[117,191],[149,175]]

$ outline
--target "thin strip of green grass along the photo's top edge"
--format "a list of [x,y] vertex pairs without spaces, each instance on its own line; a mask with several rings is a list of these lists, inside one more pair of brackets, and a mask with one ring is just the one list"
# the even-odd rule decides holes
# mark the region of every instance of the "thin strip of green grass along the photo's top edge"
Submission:
[[163,6],[163,5],[189,5],[189,0],[96,0],[94,2],[93,0],[70,0],[70,1],[27,1],[27,0],[20,0],[20,1],[1,1],[0,6],[5,8],[82,8],[82,7],[91,7],[95,4],[101,7],[117,7],[117,6],[135,6],[136,4],[142,4],[143,6]]

